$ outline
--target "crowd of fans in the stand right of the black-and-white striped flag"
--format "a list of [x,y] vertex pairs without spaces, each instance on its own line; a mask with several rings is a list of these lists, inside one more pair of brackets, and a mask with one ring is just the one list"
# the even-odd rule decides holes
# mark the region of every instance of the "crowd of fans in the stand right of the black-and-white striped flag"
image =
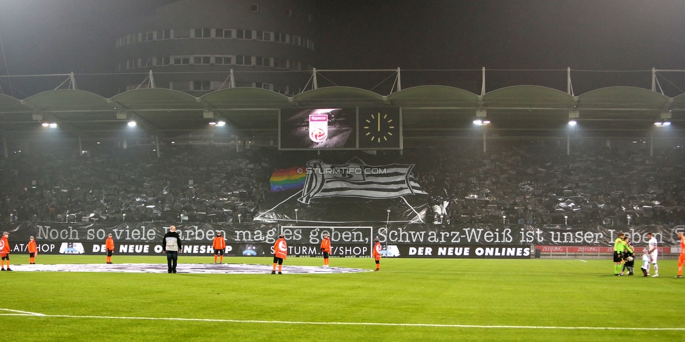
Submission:
[[428,221],[472,224],[685,224],[685,151],[510,144],[434,149],[416,172]]

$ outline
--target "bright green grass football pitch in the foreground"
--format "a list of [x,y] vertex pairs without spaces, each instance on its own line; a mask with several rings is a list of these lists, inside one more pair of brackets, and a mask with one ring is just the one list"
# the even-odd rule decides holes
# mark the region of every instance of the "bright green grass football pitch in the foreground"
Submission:
[[[20,254],[12,259],[28,262]],[[37,261],[104,259],[40,255]],[[163,257],[115,256],[113,261],[166,263]],[[180,256],[179,261],[213,260]],[[266,258],[226,261],[270,263]],[[284,273],[288,264],[319,266],[321,259],[290,258]],[[331,266],[373,268],[373,260],[331,259]],[[685,327],[685,279],[674,279],[675,261],[659,266],[660,278],[615,277],[608,259],[383,259],[380,272],[328,275],[3,272],[0,308],[105,317],[15,316],[0,310],[0,335],[6,341],[683,341],[684,330],[558,328]]]

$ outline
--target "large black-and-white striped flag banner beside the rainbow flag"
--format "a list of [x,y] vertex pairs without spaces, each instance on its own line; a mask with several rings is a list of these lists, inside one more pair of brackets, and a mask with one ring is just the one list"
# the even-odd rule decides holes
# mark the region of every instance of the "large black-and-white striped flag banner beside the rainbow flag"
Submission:
[[372,166],[357,158],[353,160],[337,165],[321,160],[308,161],[305,188],[298,200],[309,204],[312,198],[387,199],[427,195],[411,174],[413,164]]

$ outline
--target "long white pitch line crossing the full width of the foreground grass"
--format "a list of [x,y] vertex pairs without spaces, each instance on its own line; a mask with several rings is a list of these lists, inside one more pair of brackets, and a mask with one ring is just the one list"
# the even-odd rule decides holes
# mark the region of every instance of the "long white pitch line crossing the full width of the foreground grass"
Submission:
[[[8,309],[0,309],[8,310]],[[16,310],[8,310],[16,311]],[[2,316],[34,316],[22,313],[5,313]],[[54,318],[88,318],[97,320],[163,320],[183,322],[223,322],[223,323],[257,323],[257,324],[302,324],[302,325],[371,325],[381,327],[430,327],[430,328],[474,328],[474,329],[561,329],[561,330],[633,330],[633,331],[685,331],[685,328],[640,328],[640,327],[554,327],[536,325],[474,325],[474,324],[425,324],[425,323],[378,323],[378,322],[301,322],[279,320],[222,320],[213,318],[182,317],[126,317],[126,316],[77,316],[77,315],[41,315],[35,317]]]

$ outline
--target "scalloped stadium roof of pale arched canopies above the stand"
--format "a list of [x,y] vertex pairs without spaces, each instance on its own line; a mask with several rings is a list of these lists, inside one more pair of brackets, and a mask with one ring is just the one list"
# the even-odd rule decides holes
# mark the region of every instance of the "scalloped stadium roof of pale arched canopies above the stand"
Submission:
[[133,120],[143,134],[173,138],[225,120],[241,137],[275,139],[282,108],[385,106],[403,108],[408,138],[473,135],[477,110],[486,111],[488,130],[500,136],[559,135],[555,131],[566,130],[573,111],[578,111],[578,129],[592,136],[644,136],[664,118],[673,122],[671,129],[685,128],[685,95],[671,98],[642,88],[601,88],[572,96],[541,86],[512,86],[481,96],[448,86],[418,86],[387,96],[350,87],[318,88],[293,97],[259,88],[228,88],[202,97],[163,88],[109,99],[83,90],[51,90],[25,100],[0,95],[0,130],[10,138],[32,137],[45,130],[41,123],[58,123],[61,130],[86,139],[113,139],[122,137]]

